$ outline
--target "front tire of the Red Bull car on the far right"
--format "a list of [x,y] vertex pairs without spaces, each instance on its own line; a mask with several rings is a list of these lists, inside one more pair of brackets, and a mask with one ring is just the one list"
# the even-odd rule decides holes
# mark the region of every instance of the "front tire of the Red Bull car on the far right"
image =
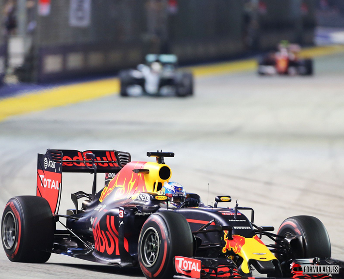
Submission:
[[302,251],[294,251],[295,258],[329,258],[331,244],[324,224],[313,216],[294,216],[280,225],[278,235],[302,236]]

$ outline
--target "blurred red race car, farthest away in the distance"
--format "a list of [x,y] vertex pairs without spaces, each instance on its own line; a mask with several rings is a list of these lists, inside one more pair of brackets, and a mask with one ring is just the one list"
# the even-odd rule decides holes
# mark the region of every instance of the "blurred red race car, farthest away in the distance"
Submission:
[[259,59],[258,74],[260,75],[301,75],[313,74],[313,61],[300,59],[300,47],[295,44],[280,44],[276,53],[270,53]]

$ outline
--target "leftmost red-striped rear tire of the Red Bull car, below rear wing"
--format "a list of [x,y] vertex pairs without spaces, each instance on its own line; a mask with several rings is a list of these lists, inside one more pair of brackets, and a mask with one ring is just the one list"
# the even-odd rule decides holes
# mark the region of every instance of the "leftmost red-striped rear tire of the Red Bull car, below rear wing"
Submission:
[[2,246],[12,262],[45,263],[50,258],[55,220],[43,197],[19,196],[6,204],[1,220]]

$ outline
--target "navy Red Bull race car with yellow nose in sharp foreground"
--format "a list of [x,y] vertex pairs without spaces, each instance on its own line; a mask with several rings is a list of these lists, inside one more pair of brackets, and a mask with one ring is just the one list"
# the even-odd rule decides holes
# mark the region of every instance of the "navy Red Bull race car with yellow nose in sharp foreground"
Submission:
[[[156,162],[131,162],[129,153],[115,150],[48,149],[38,154],[36,196],[11,198],[2,215],[8,259],[44,263],[56,253],[140,267],[147,279],[240,279],[251,278],[254,270],[270,278],[344,278],[344,262],[331,258],[328,233],[319,219],[290,217],[275,234],[273,227],[254,223],[252,208],[228,207],[228,195],[206,206],[197,194],[187,193],[197,200],[196,207],[185,201],[171,208],[171,197],[159,190],[172,174],[164,157],[174,153],[147,156]],[[90,192],[72,193],[75,208],[61,214],[64,172],[92,173],[94,181]],[[97,173],[105,173],[99,190]],[[64,229],[56,229],[57,223]],[[265,244],[262,236],[271,243]]]

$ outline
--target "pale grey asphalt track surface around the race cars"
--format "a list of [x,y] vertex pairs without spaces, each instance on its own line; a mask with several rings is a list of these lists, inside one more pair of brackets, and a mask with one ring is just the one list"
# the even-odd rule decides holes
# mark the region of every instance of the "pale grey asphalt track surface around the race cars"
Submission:
[[[315,59],[314,77],[255,72],[203,76],[193,98],[120,98],[114,94],[0,122],[0,208],[35,195],[37,153],[47,148],[116,149],[134,161],[147,151],[165,161],[172,181],[209,204],[216,195],[255,209],[257,225],[276,231],[287,217],[313,215],[326,226],[332,256],[344,260],[344,54]],[[98,189],[103,178],[98,177]],[[64,174],[60,213],[70,193],[90,191],[92,175]],[[12,263],[0,251],[0,278],[143,278],[52,255]]]

